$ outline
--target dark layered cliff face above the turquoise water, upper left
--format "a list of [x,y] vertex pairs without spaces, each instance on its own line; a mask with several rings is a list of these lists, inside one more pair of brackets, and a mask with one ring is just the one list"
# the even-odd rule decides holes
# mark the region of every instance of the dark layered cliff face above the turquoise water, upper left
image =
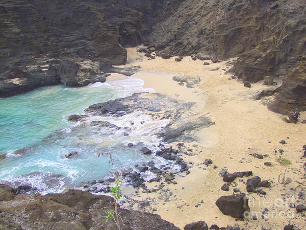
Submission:
[[[1,1],[0,97],[66,82],[65,73],[73,67],[66,61],[83,66],[81,62],[92,60],[101,68],[105,62],[123,64],[126,50],[121,45],[140,44],[145,22],[151,21],[148,15],[159,4],[151,0]],[[96,63],[92,68],[86,82],[100,74]]]

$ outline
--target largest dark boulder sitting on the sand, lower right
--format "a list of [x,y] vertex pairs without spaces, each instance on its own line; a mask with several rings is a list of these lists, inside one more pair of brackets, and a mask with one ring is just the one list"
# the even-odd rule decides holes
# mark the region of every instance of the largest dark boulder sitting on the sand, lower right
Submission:
[[233,194],[231,196],[221,196],[216,205],[219,210],[227,216],[234,218],[244,217],[245,212],[249,212],[248,199],[242,194]]

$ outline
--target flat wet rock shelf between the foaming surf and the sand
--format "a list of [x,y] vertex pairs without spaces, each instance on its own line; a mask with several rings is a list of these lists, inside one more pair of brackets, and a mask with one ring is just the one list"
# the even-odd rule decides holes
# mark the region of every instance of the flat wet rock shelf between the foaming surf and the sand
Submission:
[[147,93],[135,93],[126,98],[98,103],[85,109],[86,113],[95,116],[122,117],[134,111],[144,111],[151,113],[163,113],[161,119],[169,119],[167,124],[158,136],[164,142],[195,141],[196,130],[201,127],[210,127],[215,123],[205,116],[190,116],[188,111],[192,109],[194,103],[184,103],[183,101],[171,99],[161,94],[150,96]]

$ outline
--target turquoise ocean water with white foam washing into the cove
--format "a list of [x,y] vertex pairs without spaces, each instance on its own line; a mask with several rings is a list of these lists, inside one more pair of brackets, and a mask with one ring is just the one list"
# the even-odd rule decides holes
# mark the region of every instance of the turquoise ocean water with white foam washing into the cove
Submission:
[[[167,121],[152,121],[141,111],[121,118],[91,116],[89,121],[109,121],[120,130],[82,127],[68,122],[91,104],[148,91],[143,81],[127,77],[80,88],[63,85],[38,88],[29,93],[0,99],[0,182],[13,186],[31,184],[42,194],[62,192],[82,182],[101,179],[117,168],[129,168],[150,159],[140,152],[143,142],[154,148],[156,133]],[[133,124],[133,123],[134,124]],[[82,123],[83,124],[83,123]],[[129,131],[130,135],[124,135]],[[15,154],[18,149],[24,154]],[[67,159],[71,152],[78,155]],[[114,165],[110,164],[110,157]],[[161,162],[162,164],[162,162]]]

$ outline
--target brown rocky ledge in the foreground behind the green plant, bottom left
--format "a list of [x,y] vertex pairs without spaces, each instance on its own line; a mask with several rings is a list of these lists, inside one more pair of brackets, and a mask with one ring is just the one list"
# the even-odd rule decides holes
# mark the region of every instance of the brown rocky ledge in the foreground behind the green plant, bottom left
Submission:
[[[2,188],[2,187],[1,187]],[[3,196],[0,190],[2,229],[117,229],[106,221],[114,199],[80,190],[63,194]],[[120,209],[122,229],[179,229],[159,215]]]

